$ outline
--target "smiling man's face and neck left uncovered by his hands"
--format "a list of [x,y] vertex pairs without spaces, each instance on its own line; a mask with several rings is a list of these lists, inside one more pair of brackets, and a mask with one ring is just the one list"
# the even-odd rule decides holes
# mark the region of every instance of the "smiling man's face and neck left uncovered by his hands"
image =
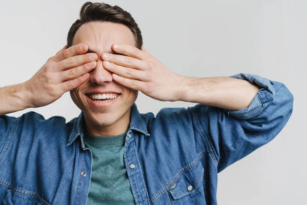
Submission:
[[[108,22],[83,24],[73,41],[73,45],[86,43],[89,50],[98,55],[97,66],[90,72],[89,80],[70,91],[74,103],[84,113],[86,129],[94,135],[107,136],[124,132],[129,123],[130,107],[138,96],[137,90],[116,83],[112,78],[112,72],[102,66],[101,54],[111,52],[112,44],[117,42],[135,46],[133,33],[128,27]],[[108,103],[91,99],[93,94],[99,93],[119,95]]]

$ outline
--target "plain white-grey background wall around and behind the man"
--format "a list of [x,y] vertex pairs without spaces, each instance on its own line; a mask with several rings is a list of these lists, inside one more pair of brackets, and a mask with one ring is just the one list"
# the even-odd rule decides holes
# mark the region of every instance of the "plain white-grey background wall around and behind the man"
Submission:
[[[66,44],[85,1],[3,1],[0,86],[26,81]],[[288,124],[269,144],[218,175],[218,204],[307,204],[307,1],[106,1],[130,12],[145,48],[171,71],[195,77],[256,74],[284,83],[294,95]],[[39,97],[39,96],[37,96]],[[139,92],[140,113],[195,104],[160,102]],[[148,106],[149,105],[149,106]],[[69,93],[27,109],[45,118],[80,110]]]

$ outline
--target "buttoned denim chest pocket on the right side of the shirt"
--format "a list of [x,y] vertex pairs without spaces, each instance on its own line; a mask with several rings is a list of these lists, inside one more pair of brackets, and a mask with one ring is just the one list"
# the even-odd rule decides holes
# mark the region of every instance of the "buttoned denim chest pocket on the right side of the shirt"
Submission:
[[172,204],[206,204],[204,168],[199,161],[184,171],[167,190]]

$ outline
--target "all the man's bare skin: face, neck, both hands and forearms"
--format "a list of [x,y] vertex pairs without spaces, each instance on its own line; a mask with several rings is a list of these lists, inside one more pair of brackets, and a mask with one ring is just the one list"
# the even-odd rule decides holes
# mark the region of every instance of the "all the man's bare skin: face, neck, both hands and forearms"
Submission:
[[[86,53],[88,49],[96,53]],[[111,54],[112,50],[116,54]],[[111,106],[96,108],[85,96],[93,89],[121,95]],[[136,48],[126,26],[91,22],[79,28],[73,46],[64,46],[32,78],[0,88],[0,115],[49,105],[70,91],[74,103],[84,112],[85,130],[111,136],[127,130],[138,91],[160,101],[181,100],[240,110],[250,105],[259,89],[247,80],[232,77],[175,74],[144,47]]]

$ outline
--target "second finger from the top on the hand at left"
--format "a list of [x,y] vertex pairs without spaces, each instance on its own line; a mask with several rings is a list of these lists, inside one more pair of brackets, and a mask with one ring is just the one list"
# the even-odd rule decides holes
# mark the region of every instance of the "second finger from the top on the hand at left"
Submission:
[[58,63],[58,70],[63,71],[70,68],[75,68],[91,61],[96,61],[98,55],[96,53],[86,53],[83,55],[77,55],[69,58],[65,58]]

